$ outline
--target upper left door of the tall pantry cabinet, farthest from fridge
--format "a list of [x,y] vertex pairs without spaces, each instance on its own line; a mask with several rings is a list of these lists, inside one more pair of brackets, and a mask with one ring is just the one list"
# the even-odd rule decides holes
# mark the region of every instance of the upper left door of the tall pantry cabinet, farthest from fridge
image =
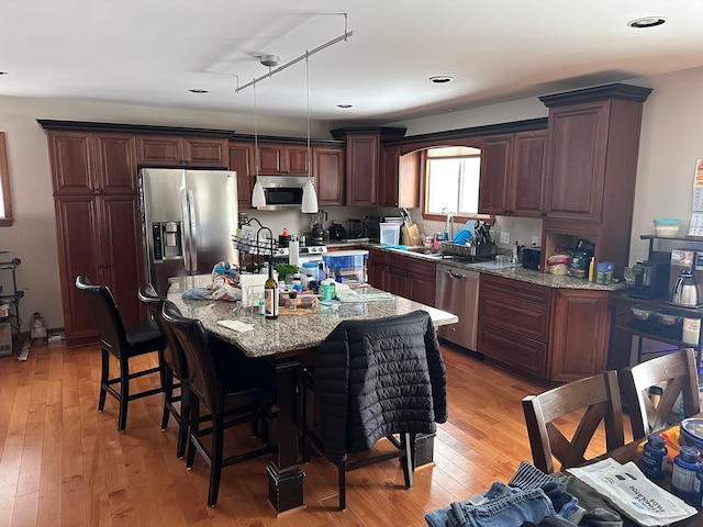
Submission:
[[49,132],[49,156],[55,194],[93,193],[93,136],[83,132]]

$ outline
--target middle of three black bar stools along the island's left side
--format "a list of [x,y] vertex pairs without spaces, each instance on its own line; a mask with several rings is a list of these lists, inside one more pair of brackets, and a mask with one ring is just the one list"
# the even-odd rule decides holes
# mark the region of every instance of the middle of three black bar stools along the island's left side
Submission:
[[161,334],[166,338],[164,348],[164,363],[161,370],[161,385],[164,386],[164,412],[161,414],[161,430],[168,427],[168,421],[172,416],[178,424],[178,440],[176,444],[176,457],[181,459],[186,455],[188,429],[190,426],[190,384],[186,356],[180,348],[170,326],[164,321],[161,306],[163,299],[150,283],[144,283],[137,292],[140,302],[144,304],[149,315],[156,321]]

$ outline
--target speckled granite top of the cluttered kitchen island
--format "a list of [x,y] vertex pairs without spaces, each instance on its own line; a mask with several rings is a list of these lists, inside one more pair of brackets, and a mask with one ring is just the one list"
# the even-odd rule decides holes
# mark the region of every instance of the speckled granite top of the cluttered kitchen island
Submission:
[[[255,314],[250,317],[253,322],[246,321],[253,323],[254,330],[238,333],[217,324],[217,321],[223,319],[243,319],[246,314],[237,309],[237,303],[181,298],[186,289],[208,287],[210,281],[210,274],[176,279],[168,290],[168,300],[178,306],[183,316],[199,318],[210,334],[234,344],[252,358],[317,347],[337,324],[346,318],[372,319],[423,310],[429,313],[435,326],[456,324],[459,321],[456,315],[446,311],[393,296],[393,300],[380,302],[343,302],[338,312],[334,314],[291,314],[283,306],[277,319],[269,321],[264,315]],[[370,287],[358,290],[359,295],[379,292]]]

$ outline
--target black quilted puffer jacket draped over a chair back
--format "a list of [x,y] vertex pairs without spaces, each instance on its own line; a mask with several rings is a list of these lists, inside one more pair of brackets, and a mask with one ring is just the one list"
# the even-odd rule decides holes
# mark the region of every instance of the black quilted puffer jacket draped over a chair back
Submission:
[[314,383],[325,456],[335,462],[447,421],[447,375],[425,311],[342,322],[317,349]]

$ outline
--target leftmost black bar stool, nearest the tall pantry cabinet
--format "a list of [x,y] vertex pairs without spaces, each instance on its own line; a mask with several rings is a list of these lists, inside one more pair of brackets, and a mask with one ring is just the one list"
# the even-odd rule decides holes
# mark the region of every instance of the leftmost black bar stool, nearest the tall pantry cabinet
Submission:
[[[100,334],[100,348],[102,352],[102,367],[100,372],[100,397],[98,400],[98,412],[102,412],[105,406],[105,397],[109,393],[115,397],[120,404],[118,415],[118,431],[124,431],[127,423],[127,404],[135,399],[146,397],[161,393],[164,388],[143,390],[141,392],[130,391],[132,379],[161,372],[163,351],[166,341],[158,325],[154,321],[140,322],[124,325],[118,304],[112,296],[112,292],[107,285],[91,283],[88,277],[76,278],[76,288],[83,294],[98,323]],[[144,370],[131,371],[130,359],[138,355],[156,352],[158,355],[158,366]],[[110,355],[114,356],[120,363],[120,373],[110,377]],[[114,385],[119,384],[120,390]]]

